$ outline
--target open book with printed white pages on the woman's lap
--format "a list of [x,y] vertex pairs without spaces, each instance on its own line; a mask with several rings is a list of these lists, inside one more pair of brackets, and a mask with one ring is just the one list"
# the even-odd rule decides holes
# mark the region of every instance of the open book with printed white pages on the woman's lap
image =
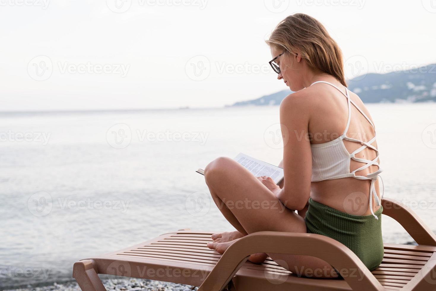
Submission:
[[[233,159],[249,170],[255,177],[271,177],[276,184],[279,184],[284,178],[282,168],[260,161],[254,157],[247,156],[246,154],[239,153]],[[204,175],[203,169],[198,169],[196,172]]]

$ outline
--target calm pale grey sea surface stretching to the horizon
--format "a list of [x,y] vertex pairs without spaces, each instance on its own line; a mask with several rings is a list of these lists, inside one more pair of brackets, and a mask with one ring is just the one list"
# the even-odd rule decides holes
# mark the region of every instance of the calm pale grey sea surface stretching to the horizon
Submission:
[[[436,104],[368,109],[385,197],[436,230]],[[208,194],[195,170],[239,152],[278,164],[277,123],[278,106],[0,113],[0,288],[68,280],[77,260],[177,229],[232,229],[208,196],[193,205]],[[383,235],[412,241],[386,216]]]

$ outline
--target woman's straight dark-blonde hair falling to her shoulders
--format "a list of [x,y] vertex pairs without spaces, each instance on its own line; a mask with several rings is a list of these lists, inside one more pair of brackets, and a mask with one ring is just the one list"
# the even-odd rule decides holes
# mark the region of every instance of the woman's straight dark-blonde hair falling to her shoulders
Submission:
[[286,17],[272,31],[266,43],[292,54],[300,51],[301,58],[311,68],[332,75],[347,86],[342,51],[324,25],[315,18],[303,13]]

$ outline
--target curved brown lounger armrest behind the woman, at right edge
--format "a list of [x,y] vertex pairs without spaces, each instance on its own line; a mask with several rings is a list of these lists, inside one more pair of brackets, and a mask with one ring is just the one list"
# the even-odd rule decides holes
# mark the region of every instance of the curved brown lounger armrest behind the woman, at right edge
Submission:
[[412,209],[390,198],[381,199],[381,205],[383,206],[383,214],[399,222],[416,243],[436,246],[436,235]]

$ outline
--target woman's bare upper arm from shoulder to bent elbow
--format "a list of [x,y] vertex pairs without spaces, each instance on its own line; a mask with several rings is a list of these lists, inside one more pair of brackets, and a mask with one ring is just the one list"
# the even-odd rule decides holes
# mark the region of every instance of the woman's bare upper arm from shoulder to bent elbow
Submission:
[[295,92],[280,104],[283,135],[283,188],[277,193],[286,208],[303,210],[310,197],[312,152],[308,134],[310,106],[307,96]]

